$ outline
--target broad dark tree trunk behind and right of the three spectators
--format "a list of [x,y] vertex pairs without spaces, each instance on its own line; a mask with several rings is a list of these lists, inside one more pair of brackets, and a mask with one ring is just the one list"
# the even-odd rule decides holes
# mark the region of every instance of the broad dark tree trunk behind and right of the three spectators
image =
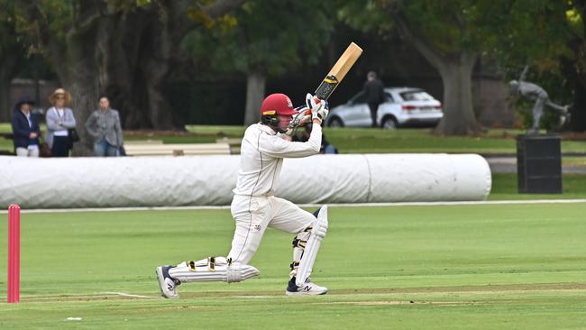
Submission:
[[163,92],[175,51],[169,27],[155,9],[110,15],[100,24],[100,86],[120,111],[125,129],[171,130],[175,119]]

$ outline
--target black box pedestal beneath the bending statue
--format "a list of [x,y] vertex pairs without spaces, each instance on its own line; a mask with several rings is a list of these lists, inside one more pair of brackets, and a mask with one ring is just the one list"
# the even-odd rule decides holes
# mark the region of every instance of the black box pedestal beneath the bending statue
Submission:
[[517,179],[521,194],[561,194],[562,137],[518,135]]

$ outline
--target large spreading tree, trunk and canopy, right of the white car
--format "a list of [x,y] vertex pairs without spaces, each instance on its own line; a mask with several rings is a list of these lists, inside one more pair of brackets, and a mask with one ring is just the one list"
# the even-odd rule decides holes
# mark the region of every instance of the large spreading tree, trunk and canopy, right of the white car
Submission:
[[563,47],[552,46],[563,45],[563,39],[547,37],[560,26],[559,17],[551,14],[564,5],[546,0],[372,0],[350,1],[340,14],[363,30],[398,32],[418,50],[444,84],[444,118],[435,133],[473,134],[479,127],[472,109],[472,69],[479,56],[511,60],[514,53],[518,64],[520,58],[543,59],[547,50],[559,55]]

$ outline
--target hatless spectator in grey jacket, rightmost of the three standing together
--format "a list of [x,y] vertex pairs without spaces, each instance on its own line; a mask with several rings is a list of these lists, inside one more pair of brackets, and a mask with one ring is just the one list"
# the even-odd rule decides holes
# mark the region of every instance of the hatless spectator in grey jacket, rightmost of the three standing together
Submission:
[[106,96],[100,97],[99,105],[100,108],[87,118],[86,131],[94,137],[96,157],[115,157],[123,144],[120,115],[110,108]]

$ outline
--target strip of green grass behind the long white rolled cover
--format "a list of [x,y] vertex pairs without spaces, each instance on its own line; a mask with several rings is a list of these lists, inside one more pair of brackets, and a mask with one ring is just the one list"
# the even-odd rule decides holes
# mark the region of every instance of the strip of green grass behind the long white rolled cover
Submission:
[[[127,133],[126,141],[161,140],[165,143],[210,143],[218,138],[242,138],[245,127],[219,125],[188,125],[188,133]],[[0,133],[11,132],[9,124],[0,124]],[[518,130],[491,130],[481,136],[437,136],[429,129],[395,131],[370,128],[325,128],[325,135],[341,153],[386,152],[454,152],[481,154],[515,154]],[[0,139],[0,150],[12,151],[12,141]],[[562,142],[563,152],[586,154],[586,142]],[[572,160],[575,163],[576,160]]]

